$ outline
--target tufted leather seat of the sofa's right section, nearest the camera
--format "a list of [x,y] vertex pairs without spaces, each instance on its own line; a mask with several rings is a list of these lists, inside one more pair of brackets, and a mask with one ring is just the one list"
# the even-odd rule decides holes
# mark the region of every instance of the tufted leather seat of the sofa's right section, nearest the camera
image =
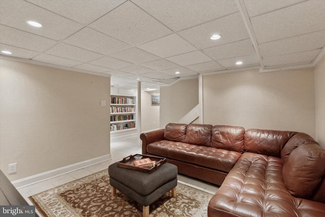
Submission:
[[281,159],[245,152],[211,198],[208,216],[325,216],[325,204],[289,193]]

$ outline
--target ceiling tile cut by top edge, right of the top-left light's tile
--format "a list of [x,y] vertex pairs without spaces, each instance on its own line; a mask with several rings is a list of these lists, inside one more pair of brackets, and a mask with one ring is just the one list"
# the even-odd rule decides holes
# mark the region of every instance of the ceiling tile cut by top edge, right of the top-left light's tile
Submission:
[[30,3],[41,6],[56,14],[72,19],[82,24],[89,24],[99,17],[113,10],[125,0],[103,1],[103,0],[84,0],[78,1],[44,1],[27,0]]

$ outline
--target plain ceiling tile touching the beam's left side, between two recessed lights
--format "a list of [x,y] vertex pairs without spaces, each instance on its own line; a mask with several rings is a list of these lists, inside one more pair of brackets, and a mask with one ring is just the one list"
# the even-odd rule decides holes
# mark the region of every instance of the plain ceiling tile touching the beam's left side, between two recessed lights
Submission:
[[250,39],[239,42],[206,48],[203,51],[212,59],[228,59],[237,56],[254,54],[255,50]]

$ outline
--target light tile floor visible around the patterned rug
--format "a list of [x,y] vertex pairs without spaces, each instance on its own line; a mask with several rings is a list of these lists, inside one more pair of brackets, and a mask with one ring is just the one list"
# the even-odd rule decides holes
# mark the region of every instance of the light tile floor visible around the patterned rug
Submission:
[[[27,185],[25,187],[19,188],[18,191],[25,198],[25,200],[30,205],[32,205],[32,203],[28,199],[29,196],[57,187],[58,185],[76,180],[78,178],[82,178],[92,173],[107,169],[109,165],[122,160],[124,157],[129,156],[130,154],[136,154],[136,153],[141,153],[141,147],[138,144],[137,137],[112,141],[111,160],[104,161],[95,165],[91,165],[60,176],[56,176],[35,184]],[[193,188],[197,188],[211,194],[214,194],[218,190],[217,185],[213,185],[201,180],[193,179],[184,175],[178,175],[177,178],[180,183],[187,184]],[[42,215],[39,214],[39,216]]]

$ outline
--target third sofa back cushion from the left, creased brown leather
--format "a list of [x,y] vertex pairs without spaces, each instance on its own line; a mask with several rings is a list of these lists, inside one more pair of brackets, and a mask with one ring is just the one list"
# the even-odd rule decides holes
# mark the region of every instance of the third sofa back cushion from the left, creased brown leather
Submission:
[[245,129],[242,127],[216,125],[211,130],[211,146],[242,153],[244,135]]

